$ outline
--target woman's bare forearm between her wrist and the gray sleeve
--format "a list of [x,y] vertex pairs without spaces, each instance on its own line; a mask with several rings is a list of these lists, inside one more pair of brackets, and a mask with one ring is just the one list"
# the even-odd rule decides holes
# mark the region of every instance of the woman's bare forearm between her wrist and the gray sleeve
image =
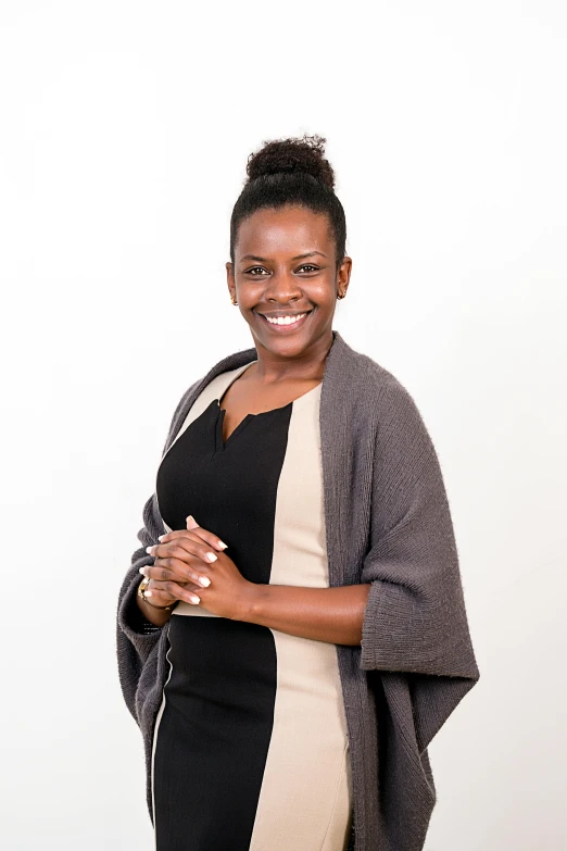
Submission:
[[252,585],[234,620],[333,644],[360,644],[369,590],[369,584],[338,588]]

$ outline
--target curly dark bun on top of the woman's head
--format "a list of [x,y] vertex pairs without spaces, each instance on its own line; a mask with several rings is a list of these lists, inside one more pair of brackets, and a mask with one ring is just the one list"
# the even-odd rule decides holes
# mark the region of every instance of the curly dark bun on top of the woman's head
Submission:
[[329,189],[335,189],[335,173],[325,158],[326,141],[322,136],[306,134],[300,139],[265,141],[259,151],[248,158],[249,183],[264,175],[303,173],[310,174]]

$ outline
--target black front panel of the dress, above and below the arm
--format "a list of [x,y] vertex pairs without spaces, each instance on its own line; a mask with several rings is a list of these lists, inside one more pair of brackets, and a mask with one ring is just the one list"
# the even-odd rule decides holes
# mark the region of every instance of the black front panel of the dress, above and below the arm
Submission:
[[[158,472],[166,524],[185,529],[192,514],[253,583],[269,583],[292,405],[249,414],[224,443],[224,411],[213,400]],[[172,615],[167,656],[153,763],[156,851],[248,851],[274,723],[273,633],[224,617]]]

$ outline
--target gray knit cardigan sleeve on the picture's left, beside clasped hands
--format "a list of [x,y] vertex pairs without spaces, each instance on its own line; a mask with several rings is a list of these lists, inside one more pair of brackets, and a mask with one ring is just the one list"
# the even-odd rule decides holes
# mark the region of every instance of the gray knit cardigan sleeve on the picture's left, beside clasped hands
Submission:
[[[181,412],[186,409],[187,399],[193,393],[202,379],[191,385],[179,400],[163,448],[162,458],[174,441],[181,424]],[[160,543],[160,535],[165,534],[165,526],[160,515],[156,493],[146,501],[142,512],[143,526],[138,531],[141,545],[131,555],[130,566],[123,579],[118,592],[116,614],[116,653],[118,662],[118,678],[124,700],[133,717],[138,721],[136,694],[146,663],[160,640],[163,626],[155,626],[148,621],[136,602],[138,587],[142,580],[139,572],[141,566],[153,564],[155,558],[146,552],[146,548]]]

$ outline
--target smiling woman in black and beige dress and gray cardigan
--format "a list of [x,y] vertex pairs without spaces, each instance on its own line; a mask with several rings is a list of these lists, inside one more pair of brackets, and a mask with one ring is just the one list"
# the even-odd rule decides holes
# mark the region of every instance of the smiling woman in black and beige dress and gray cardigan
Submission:
[[249,158],[227,279],[254,347],[181,398],[119,592],[156,851],[419,851],[427,746],[479,678],[432,442],[332,329],[324,142]]

